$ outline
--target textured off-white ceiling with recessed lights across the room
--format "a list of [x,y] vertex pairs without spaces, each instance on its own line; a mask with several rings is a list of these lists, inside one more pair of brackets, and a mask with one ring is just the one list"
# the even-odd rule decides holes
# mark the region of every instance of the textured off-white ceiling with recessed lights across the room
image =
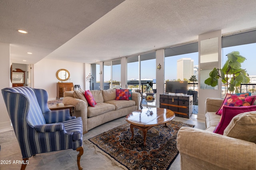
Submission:
[[255,8],[255,0],[0,0],[0,42],[11,44],[13,63],[95,63],[255,28]]

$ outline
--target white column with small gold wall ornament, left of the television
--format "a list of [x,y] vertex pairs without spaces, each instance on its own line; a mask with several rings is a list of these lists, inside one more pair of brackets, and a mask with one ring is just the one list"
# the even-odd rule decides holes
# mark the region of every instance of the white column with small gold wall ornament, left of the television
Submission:
[[[158,70],[158,64],[161,69]],[[164,93],[164,49],[156,50],[156,107],[159,107],[160,94]]]

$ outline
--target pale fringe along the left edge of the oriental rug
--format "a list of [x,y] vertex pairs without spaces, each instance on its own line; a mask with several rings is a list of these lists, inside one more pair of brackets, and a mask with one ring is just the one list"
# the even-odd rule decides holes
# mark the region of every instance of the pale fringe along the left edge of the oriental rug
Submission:
[[102,150],[100,150],[96,145],[94,145],[92,142],[88,141],[88,140],[84,140],[83,143],[89,147],[89,148],[94,148],[94,154],[97,154],[97,152],[99,152],[100,154],[105,155],[110,161],[111,164],[113,166],[118,166],[124,170],[128,170],[125,166],[123,166],[122,164],[120,164],[119,162],[117,162],[114,158],[112,158],[111,156],[109,156],[107,153],[103,152]]

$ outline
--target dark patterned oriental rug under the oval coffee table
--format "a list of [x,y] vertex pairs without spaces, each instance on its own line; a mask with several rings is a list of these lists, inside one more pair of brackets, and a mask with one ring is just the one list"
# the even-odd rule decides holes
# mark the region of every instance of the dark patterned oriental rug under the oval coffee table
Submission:
[[[194,125],[170,121],[148,130],[146,143],[143,145],[143,133],[134,128],[134,138],[130,123],[126,123],[89,139],[108,157],[119,162],[120,167],[128,170],[166,170],[178,155],[176,138],[178,130]],[[113,160],[112,160],[113,161]]]

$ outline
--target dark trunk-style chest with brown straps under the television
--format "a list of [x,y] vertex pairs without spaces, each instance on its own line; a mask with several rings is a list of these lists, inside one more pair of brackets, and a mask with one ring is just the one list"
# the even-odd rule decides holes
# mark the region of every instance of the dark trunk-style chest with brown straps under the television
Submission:
[[192,115],[193,95],[160,94],[160,107],[172,110],[176,116],[190,118]]

